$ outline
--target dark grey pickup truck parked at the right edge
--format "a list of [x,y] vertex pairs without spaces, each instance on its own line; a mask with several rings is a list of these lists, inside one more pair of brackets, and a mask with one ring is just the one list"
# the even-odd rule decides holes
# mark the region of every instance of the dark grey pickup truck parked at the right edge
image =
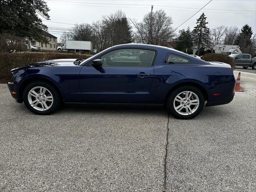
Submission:
[[252,67],[256,70],[256,58],[252,58],[250,54],[231,54],[229,56],[234,58],[237,66],[243,66],[244,69]]

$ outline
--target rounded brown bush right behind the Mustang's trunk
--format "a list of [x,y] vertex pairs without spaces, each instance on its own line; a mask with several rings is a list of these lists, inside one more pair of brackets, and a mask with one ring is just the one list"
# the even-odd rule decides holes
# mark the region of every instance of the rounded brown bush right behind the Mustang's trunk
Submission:
[[236,64],[234,58],[229,57],[228,55],[218,54],[218,53],[206,53],[201,57],[204,61],[217,61],[230,64],[231,68],[234,70]]

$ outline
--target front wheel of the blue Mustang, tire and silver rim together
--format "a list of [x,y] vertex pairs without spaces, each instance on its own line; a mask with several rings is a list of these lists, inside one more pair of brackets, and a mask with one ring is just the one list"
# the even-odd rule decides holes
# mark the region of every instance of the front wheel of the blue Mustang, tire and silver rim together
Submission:
[[32,82],[23,92],[26,107],[35,114],[47,115],[60,106],[60,97],[54,86],[46,82]]

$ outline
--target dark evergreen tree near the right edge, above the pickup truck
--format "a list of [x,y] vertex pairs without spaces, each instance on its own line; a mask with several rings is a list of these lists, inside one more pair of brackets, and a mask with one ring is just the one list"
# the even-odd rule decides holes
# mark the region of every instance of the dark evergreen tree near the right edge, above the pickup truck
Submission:
[[240,47],[242,53],[252,53],[252,34],[252,27],[246,24],[242,27],[240,34],[236,38],[235,44]]

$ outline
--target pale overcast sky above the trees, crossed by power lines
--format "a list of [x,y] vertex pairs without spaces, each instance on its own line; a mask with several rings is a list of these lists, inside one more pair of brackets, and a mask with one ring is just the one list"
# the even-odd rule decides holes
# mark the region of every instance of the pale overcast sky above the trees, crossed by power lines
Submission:
[[[100,20],[103,15],[116,12],[121,9],[128,18],[137,18],[141,21],[143,16],[151,11],[164,9],[168,16],[172,17],[172,27],[176,28],[210,0],[46,0],[50,8],[50,21],[45,22],[49,32],[59,37],[63,29],[70,28],[69,24],[92,23]],[[253,32],[256,32],[256,0],[212,0],[200,12],[178,28],[192,29],[196,19],[204,12],[209,22],[208,27],[214,28],[220,25],[238,26],[249,24]],[[44,20],[44,19],[43,19]],[[68,23],[68,24],[59,24]],[[177,31],[178,31],[177,30]]]

